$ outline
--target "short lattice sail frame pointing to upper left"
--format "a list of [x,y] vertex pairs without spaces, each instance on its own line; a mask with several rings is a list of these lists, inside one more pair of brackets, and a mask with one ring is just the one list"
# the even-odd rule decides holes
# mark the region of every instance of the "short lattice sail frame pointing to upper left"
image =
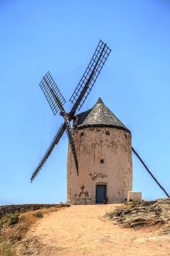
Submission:
[[[66,103],[66,100],[64,99],[63,95],[61,94],[61,91],[58,89],[58,86],[55,84],[54,79],[52,78],[49,71],[46,73],[45,76],[43,76],[43,80],[40,82],[40,87],[46,96],[47,101],[49,102],[50,108],[52,109],[52,112],[54,115],[59,111],[58,104],[55,100],[55,97],[53,96],[53,93],[56,97],[60,100],[60,102],[64,105]],[[50,90],[52,89],[52,90]],[[53,93],[52,93],[53,91]]]

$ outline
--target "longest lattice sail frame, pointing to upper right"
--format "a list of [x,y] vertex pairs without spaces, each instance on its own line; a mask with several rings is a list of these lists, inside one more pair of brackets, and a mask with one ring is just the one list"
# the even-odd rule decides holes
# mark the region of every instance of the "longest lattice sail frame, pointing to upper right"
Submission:
[[110,52],[111,52],[111,49],[109,49],[109,47],[106,44],[104,44],[104,42],[102,42],[100,40],[98,47],[96,48],[95,53],[88,65],[88,67],[86,68],[86,71],[85,71],[81,81],[79,82],[74,93],[72,94],[72,97],[70,98],[70,101],[73,104],[75,104],[76,101],[78,100],[78,97],[81,94],[81,91],[84,89],[84,86],[86,85],[88,87],[83,96],[83,99],[81,99],[81,101],[78,102],[79,103],[78,110],[81,109],[87,96],[89,95],[90,91],[92,90],[92,87],[93,87],[96,79],[98,78],[98,75],[99,75],[105,61],[107,60],[107,57],[109,56]]

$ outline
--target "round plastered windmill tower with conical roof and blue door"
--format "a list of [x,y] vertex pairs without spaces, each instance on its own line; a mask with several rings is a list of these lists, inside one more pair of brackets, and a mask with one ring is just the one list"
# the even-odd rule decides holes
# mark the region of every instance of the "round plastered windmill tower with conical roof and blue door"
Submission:
[[71,147],[67,158],[67,202],[71,204],[121,203],[132,191],[131,132],[98,99],[78,114],[73,136],[81,172],[76,175]]

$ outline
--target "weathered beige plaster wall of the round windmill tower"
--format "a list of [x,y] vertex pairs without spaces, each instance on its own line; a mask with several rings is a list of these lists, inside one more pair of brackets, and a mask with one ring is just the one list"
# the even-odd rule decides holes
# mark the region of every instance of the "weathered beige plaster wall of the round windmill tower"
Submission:
[[[106,131],[110,135],[106,135]],[[83,136],[80,136],[81,132],[84,132]],[[115,128],[85,128],[75,131],[74,139],[79,176],[69,145],[67,202],[95,204],[96,183],[107,185],[109,203],[123,202],[127,192],[132,190],[131,134]]]

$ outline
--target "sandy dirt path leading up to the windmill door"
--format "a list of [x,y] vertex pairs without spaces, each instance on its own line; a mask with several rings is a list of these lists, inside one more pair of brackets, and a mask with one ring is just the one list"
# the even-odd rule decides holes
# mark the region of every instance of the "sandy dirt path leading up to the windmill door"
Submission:
[[[170,256],[170,236],[159,230],[133,230],[102,221],[116,205],[72,206],[38,221],[25,255],[40,256]],[[25,248],[25,245],[24,245]]]

